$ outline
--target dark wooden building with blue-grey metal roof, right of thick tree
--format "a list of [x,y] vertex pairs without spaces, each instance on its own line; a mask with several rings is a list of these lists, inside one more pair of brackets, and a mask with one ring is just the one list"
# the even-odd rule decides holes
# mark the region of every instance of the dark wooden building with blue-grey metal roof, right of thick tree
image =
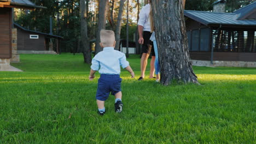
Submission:
[[185,10],[184,16],[194,65],[256,67],[256,2],[233,13]]

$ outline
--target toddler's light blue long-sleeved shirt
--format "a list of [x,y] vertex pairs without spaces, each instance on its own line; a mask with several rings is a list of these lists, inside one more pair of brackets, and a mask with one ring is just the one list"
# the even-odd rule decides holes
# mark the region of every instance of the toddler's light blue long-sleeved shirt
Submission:
[[91,69],[98,70],[100,74],[120,75],[120,65],[126,68],[129,62],[126,61],[125,54],[114,50],[114,47],[104,47],[91,61]]

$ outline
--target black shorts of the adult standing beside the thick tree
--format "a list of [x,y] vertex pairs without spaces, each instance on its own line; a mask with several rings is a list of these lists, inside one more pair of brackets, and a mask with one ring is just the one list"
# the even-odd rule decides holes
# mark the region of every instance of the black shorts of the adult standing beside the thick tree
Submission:
[[[153,41],[149,40],[151,35],[152,35],[152,33],[148,32],[148,31],[143,31],[144,43],[142,45],[142,53],[150,54],[150,52],[151,52],[151,55],[155,56]],[[150,49],[150,47],[148,47],[148,44],[152,45],[152,49]]]

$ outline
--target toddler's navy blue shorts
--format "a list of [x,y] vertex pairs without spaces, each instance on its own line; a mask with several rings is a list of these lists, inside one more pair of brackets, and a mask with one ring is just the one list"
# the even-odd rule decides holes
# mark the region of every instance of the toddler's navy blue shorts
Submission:
[[101,74],[100,79],[98,79],[96,99],[105,101],[108,99],[110,92],[112,95],[120,92],[121,81],[122,79],[119,75]]

